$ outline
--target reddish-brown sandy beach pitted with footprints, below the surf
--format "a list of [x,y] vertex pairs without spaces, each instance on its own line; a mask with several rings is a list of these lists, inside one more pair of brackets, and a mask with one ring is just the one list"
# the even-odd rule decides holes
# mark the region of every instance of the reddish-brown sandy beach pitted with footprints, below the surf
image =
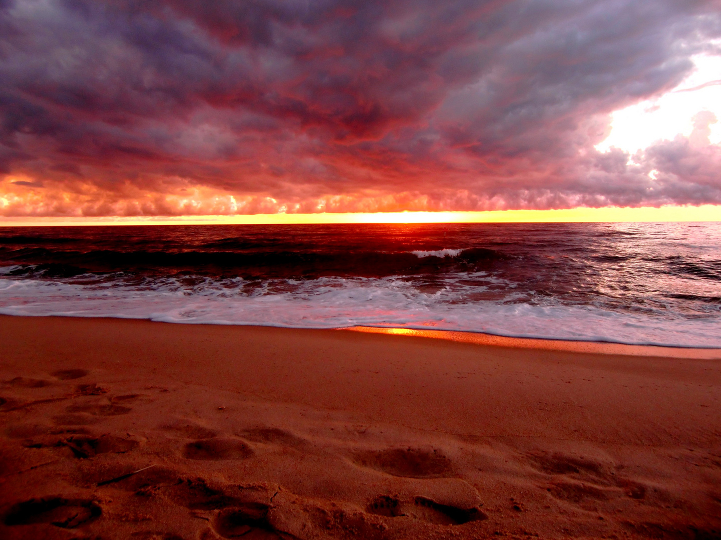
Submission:
[[0,538],[721,538],[721,351],[615,347],[1,317]]

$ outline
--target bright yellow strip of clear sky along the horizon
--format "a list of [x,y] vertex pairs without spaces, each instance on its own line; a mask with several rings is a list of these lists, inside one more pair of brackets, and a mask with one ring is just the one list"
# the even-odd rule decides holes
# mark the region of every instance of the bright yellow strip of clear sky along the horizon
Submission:
[[721,221],[721,205],[491,210],[487,212],[374,212],[139,217],[0,217],[0,226],[32,225],[273,225],[319,223],[510,223]]

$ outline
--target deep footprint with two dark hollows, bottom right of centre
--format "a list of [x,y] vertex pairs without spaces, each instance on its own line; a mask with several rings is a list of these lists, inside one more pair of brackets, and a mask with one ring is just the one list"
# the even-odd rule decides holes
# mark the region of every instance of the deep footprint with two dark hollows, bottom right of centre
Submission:
[[443,505],[420,496],[412,498],[412,500],[402,500],[392,495],[380,495],[368,504],[366,510],[376,516],[414,518],[435,525],[462,525],[488,518],[479,508]]

